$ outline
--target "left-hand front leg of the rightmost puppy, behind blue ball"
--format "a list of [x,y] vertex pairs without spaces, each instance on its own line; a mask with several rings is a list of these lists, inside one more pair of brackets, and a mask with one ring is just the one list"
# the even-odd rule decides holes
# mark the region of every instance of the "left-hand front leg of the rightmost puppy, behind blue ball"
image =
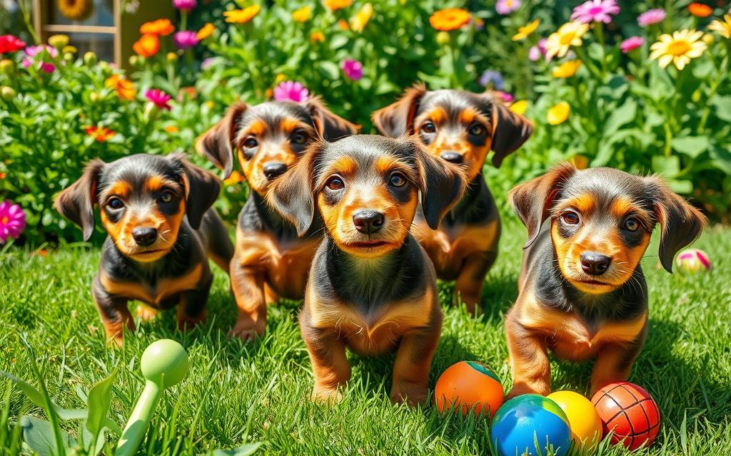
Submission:
[[507,398],[527,393],[550,393],[550,363],[545,339],[521,325],[515,317],[515,309],[505,318],[507,351],[512,368],[512,390]]

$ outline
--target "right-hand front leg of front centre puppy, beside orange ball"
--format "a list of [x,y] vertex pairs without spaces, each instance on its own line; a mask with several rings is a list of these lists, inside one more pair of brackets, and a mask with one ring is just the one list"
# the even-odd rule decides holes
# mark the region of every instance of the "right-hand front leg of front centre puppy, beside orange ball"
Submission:
[[439,344],[441,329],[442,312],[439,312],[439,319],[428,328],[407,333],[401,339],[393,363],[391,402],[414,406],[426,401],[431,360]]

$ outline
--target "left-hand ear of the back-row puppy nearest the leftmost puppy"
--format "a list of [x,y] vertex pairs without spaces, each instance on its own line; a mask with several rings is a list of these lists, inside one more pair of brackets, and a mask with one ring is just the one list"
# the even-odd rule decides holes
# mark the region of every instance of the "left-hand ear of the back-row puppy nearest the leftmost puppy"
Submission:
[[236,147],[234,141],[239,127],[238,122],[246,109],[246,103],[243,101],[232,104],[224,118],[195,141],[195,150],[222,169],[224,179],[233,171],[233,151]]

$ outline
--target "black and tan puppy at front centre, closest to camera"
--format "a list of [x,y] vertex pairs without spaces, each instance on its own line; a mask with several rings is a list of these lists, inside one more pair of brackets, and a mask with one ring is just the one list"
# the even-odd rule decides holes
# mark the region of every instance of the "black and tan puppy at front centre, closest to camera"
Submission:
[[273,185],[270,201],[300,234],[316,212],[325,224],[300,314],[314,400],[341,398],[338,387],[350,378],[346,347],[360,355],[395,350],[391,400],[425,400],[442,311],[431,261],[410,228],[419,192],[436,228],[463,187],[458,169],[415,142],[371,135],[314,144]]

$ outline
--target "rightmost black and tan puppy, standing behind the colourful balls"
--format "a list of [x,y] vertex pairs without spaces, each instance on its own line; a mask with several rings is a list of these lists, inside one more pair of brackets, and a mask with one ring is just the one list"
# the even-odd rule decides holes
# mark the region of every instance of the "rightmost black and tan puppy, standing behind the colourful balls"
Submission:
[[647,334],[647,284],[640,259],[654,226],[659,258],[692,243],[705,217],[659,177],[563,164],[515,187],[528,228],[520,294],[505,320],[511,396],[550,393],[548,349],[572,361],[596,358],[591,394],[625,381]]

